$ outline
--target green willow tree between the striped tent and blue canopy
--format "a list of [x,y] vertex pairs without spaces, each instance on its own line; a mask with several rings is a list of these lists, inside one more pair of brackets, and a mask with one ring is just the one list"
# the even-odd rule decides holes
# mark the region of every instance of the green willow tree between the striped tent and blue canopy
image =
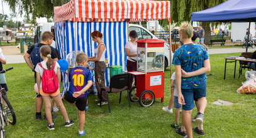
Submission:
[[[181,24],[182,22],[191,22],[191,13],[196,11],[201,11],[203,9],[208,9],[214,7],[218,4],[224,3],[227,0],[170,0],[171,3],[171,16],[172,24]],[[210,23],[213,22],[202,22],[202,26],[205,30],[204,43],[209,43],[211,40],[211,29]],[[162,26],[167,26],[167,20],[160,21]]]

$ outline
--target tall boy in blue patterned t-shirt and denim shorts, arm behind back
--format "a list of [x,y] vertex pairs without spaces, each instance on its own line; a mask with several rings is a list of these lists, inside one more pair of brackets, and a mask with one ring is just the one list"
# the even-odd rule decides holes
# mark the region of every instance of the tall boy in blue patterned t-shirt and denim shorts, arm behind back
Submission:
[[[195,122],[202,124],[207,105],[206,72],[210,71],[211,66],[206,48],[192,42],[193,28],[190,24],[182,25],[179,35],[184,45],[175,50],[172,64],[175,65],[179,104],[182,104],[182,125],[186,128],[187,136],[192,137],[191,113],[195,107],[194,100],[198,101]],[[179,131],[182,132],[181,129]]]

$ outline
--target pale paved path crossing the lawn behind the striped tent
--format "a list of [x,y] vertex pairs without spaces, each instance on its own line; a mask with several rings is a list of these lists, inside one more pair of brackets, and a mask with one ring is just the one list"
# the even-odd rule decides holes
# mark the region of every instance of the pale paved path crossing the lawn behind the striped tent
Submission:
[[[248,52],[255,51],[256,48],[248,48]],[[245,48],[214,48],[209,49],[209,54],[219,54],[219,53],[238,53],[245,52]],[[10,63],[25,63],[23,55],[5,55],[6,61],[8,64]]]

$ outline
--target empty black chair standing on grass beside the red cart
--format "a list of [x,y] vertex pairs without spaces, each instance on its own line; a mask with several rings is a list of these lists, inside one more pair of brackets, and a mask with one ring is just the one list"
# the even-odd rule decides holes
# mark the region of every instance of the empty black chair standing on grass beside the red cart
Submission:
[[[108,93],[118,93],[118,92],[120,92],[120,98],[119,98],[119,103],[120,103],[122,92],[124,90],[127,90],[129,107],[131,107],[130,93],[129,93],[129,90],[128,90],[128,84],[130,83],[130,78],[131,78],[130,73],[122,73],[122,74],[118,74],[118,75],[113,75],[113,77],[110,78],[109,87],[101,88],[101,96],[102,96],[103,90],[105,90],[106,94],[107,94],[109,113],[111,112],[111,109],[110,109],[110,104],[109,104]],[[99,100],[99,103],[100,103],[99,107],[101,107],[101,101],[102,101],[102,97]]]

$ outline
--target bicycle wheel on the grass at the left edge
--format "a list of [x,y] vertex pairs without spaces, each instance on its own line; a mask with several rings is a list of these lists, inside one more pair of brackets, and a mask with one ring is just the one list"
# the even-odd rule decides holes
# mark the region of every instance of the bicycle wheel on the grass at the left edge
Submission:
[[16,124],[16,115],[14,113],[13,107],[11,106],[11,103],[9,102],[6,95],[2,95],[3,99],[3,112],[6,114],[7,120],[9,124]]

